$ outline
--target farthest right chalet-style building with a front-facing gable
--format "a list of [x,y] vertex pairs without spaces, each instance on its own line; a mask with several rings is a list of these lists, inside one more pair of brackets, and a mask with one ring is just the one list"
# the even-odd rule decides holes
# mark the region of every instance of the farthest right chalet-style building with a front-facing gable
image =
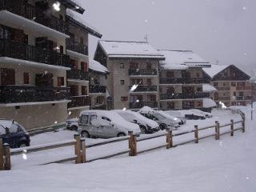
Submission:
[[210,84],[218,90],[210,95],[215,102],[223,102],[226,106],[246,106],[251,102],[250,76],[238,66],[211,65],[203,70],[210,78]]

